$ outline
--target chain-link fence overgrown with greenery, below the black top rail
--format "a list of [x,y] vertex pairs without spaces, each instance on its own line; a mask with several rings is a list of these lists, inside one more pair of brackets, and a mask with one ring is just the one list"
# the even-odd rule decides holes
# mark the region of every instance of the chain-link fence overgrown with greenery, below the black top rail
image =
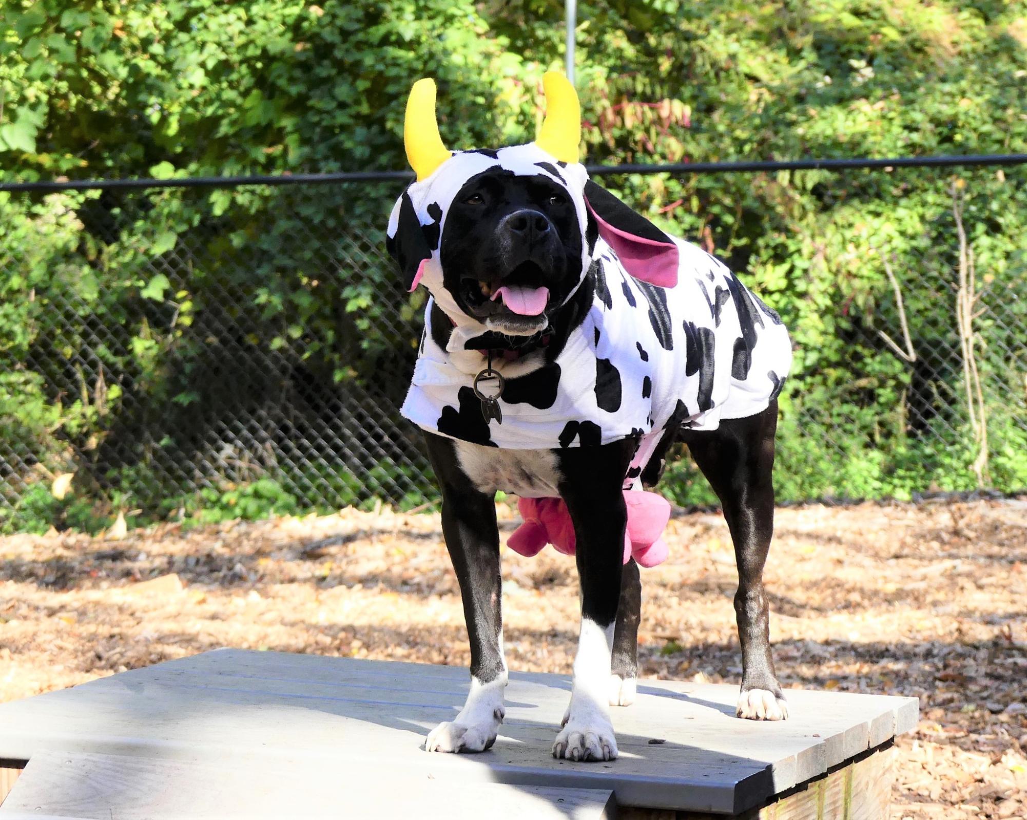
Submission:
[[[778,496],[798,501],[1027,487],[1025,180],[604,184],[783,313]],[[384,250],[403,185],[0,192],[0,529],[431,506],[398,414],[424,301]],[[664,490],[712,499],[686,459]]]

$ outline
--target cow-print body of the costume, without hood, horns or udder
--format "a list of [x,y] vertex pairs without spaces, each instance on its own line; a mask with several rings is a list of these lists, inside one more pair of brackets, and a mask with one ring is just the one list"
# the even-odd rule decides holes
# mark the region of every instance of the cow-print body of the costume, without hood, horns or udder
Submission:
[[719,260],[687,243],[679,249],[678,284],[663,289],[633,278],[600,240],[592,308],[542,368],[549,372],[523,377],[535,389],[506,390],[501,424],[485,423],[473,376],[432,340],[429,303],[403,415],[432,433],[517,450],[640,436],[630,471],[638,475],[668,424],[716,430],[766,409],[791,365],[784,325]]

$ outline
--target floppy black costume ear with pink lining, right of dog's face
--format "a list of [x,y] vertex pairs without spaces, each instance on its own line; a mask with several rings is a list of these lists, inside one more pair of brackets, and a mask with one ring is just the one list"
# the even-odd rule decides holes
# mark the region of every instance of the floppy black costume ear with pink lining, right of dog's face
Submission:
[[641,214],[592,180],[584,201],[599,235],[613,249],[624,270],[635,278],[673,288],[678,284],[678,246]]

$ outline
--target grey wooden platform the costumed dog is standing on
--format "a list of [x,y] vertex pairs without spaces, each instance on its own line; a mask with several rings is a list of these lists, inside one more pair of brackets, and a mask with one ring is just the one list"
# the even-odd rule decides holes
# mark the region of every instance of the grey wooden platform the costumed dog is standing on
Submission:
[[452,818],[483,804],[495,818],[588,818],[613,816],[611,793],[737,815],[790,791],[831,817],[825,776],[848,772],[835,790],[851,804],[853,772],[886,776],[868,751],[918,717],[912,698],[789,691],[792,718],[763,723],[734,717],[736,686],[641,681],[638,702],[613,709],[620,757],[578,763],[549,752],[569,679],[512,673],[491,751],[423,751],[467,686],[462,668],[220,649],[2,704],[0,767],[29,763],[0,820]]

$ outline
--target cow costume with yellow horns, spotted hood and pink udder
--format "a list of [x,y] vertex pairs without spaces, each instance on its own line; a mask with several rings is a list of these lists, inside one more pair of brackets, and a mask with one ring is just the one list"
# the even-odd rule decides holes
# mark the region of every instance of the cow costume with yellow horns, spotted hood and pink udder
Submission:
[[[407,142],[418,178],[396,201],[387,233],[393,252],[402,246],[407,287],[423,285],[430,298],[402,413],[432,433],[514,450],[635,439],[624,477],[624,561],[635,557],[652,566],[667,556],[659,534],[670,506],[643,491],[640,476],[657,445],[679,427],[712,431],[722,419],[766,409],[788,375],[791,345],[777,314],[723,263],[664,234],[589,181],[577,161],[578,146],[566,138],[567,122],[579,121],[573,88],[550,73],[545,92],[549,113],[534,143],[451,153],[433,124],[434,85],[421,80],[414,86]],[[433,139],[418,139],[411,131],[432,132]],[[477,340],[487,328],[459,309],[444,287],[440,246],[456,194],[476,175],[496,169],[544,175],[566,190],[582,236],[577,288],[589,287],[593,298],[556,356],[504,363],[498,412],[490,415],[476,393],[483,371]],[[510,287],[492,298],[502,298],[516,313],[538,315],[548,293]],[[435,305],[453,326],[445,348],[432,332]],[[522,497],[526,523],[509,546],[533,555],[551,543],[573,553],[573,527],[562,505],[559,498]]]

